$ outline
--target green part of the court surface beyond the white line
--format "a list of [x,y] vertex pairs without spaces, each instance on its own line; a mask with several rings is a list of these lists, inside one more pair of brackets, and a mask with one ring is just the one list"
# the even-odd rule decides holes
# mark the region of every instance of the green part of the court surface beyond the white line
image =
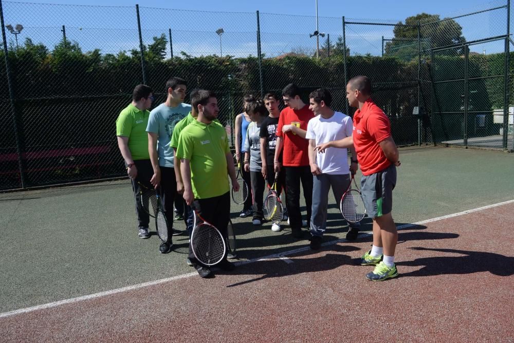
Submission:
[[[514,198],[514,154],[462,148],[400,149],[394,191],[397,225]],[[329,208],[325,240],[344,238],[347,227]],[[303,199],[302,199],[303,201]],[[188,240],[175,236],[175,251],[158,252],[159,239],[137,237],[134,200],[125,181],[0,194],[0,313],[186,274]],[[240,260],[308,244],[253,226],[232,204]],[[304,212],[305,213],[305,212]],[[363,231],[369,231],[369,220]]]

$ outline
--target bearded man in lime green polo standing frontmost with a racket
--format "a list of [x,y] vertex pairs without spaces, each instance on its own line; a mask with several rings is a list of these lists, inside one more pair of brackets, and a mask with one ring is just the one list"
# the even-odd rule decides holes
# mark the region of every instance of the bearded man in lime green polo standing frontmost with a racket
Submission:
[[[201,216],[227,237],[230,219],[230,185],[237,192],[234,160],[230,153],[225,128],[214,122],[218,115],[216,96],[212,91],[199,90],[191,99],[198,104],[198,118],[186,126],[178,140],[176,157],[180,159],[180,174],[184,185],[183,198]],[[189,259],[201,277],[211,277],[211,270],[200,264],[189,246]],[[225,271],[234,269],[226,256],[217,265]]]

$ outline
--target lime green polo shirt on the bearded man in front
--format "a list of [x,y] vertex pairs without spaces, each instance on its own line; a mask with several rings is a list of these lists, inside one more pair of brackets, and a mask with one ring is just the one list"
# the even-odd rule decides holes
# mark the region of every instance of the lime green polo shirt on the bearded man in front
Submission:
[[219,123],[206,125],[193,120],[182,130],[177,158],[190,161],[196,199],[213,198],[229,192],[226,159],[229,153],[227,132]]

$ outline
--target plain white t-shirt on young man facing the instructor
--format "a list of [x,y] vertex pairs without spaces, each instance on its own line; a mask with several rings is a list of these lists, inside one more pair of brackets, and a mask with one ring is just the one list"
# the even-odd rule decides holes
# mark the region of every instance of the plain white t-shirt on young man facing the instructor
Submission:
[[[334,116],[328,119],[316,116],[309,120],[305,138],[314,139],[318,145],[352,136],[352,131],[352,118],[341,112],[334,112]],[[323,174],[350,174],[345,148],[328,148],[323,154],[316,154],[316,164]]]

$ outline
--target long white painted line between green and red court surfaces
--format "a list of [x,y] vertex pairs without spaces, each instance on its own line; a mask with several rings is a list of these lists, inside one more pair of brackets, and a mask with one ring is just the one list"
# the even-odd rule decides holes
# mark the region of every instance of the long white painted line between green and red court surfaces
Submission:
[[[457,212],[457,213],[449,214],[449,215],[446,215],[446,216],[441,216],[441,217],[436,217],[436,218],[432,218],[432,219],[422,220],[422,221],[418,221],[418,222],[411,223],[411,224],[404,224],[404,225],[398,226],[397,228],[401,229],[401,228],[407,228],[407,227],[412,227],[412,226],[416,226],[416,225],[422,225],[422,224],[431,223],[431,222],[434,222],[434,221],[437,221],[437,220],[443,220],[443,219],[453,218],[453,217],[457,217],[457,216],[462,216],[462,215],[465,215],[465,214],[468,214],[468,213],[483,211],[484,209],[488,209],[488,208],[492,208],[492,207],[497,207],[497,206],[501,206],[501,205],[506,205],[506,204],[511,204],[511,203],[514,203],[514,199],[513,200],[499,202],[499,203],[492,204],[492,205],[487,205],[487,206],[477,207],[477,208],[473,208],[473,209],[468,209],[467,211]],[[371,233],[361,233],[360,235],[361,236],[362,235],[371,236]],[[333,245],[333,244],[344,242],[344,241],[346,241],[346,239],[337,239],[337,240],[334,240],[334,241],[325,242],[322,245],[323,246]],[[271,259],[277,259],[277,258],[284,260],[286,263],[292,263],[293,261],[288,259],[287,257],[285,257],[286,255],[292,255],[292,254],[301,253],[301,252],[307,251],[308,249],[309,249],[309,246],[303,246],[303,247],[300,247],[300,248],[297,248],[297,249],[293,249],[293,250],[289,250],[289,251],[286,251],[286,252],[282,252],[282,253],[278,253],[278,254],[273,254],[273,255],[269,255],[269,256],[261,257],[261,258],[254,258],[254,259],[247,260],[247,261],[241,261],[241,262],[237,262],[235,264],[236,265],[243,265],[243,264],[249,264],[249,263],[254,263],[254,262],[258,262],[258,261],[266,261],[266,260],[271,260]],[[39,311],[39,310],[46,310],[46,309],[58,307],[58,306],[69,304],[69,303],[74,303],[74,302],[79,302],[79,301],[84,301],[84,300],[89,300],[89,299],[100,298],[100,297],[103,297],[103,296],[117,294],[117,293],[133,291],[133,290],[137,290],[137,289],[144,288],[144,287],[151,287],[151,286],[159,284],[159,283],[164,283],[164,282],[170,282],[170,281],[185,279],[185,278],[192,277],[192,276],[195,276],[195,275],[197,275],[197,273],[196,272],[192,272],[192,273],[188,273],[188,274],[182,274],[182,275],[177,275],[177,276],[174,276],[174,277],[169,277],[169,278],[166,278],[166,279],[160,279],[160,280],[155,280],[155,281],[149,281],[149,282],[134,284],[134,285],[131,285],[131,286],[117,288],[117,289],[110,290],[110,291],[99,292],[99,293],[84,295],[84,296],[80,296],[80,297],[76,297],[76,298],[70,298],[70,299],[65,299],[65,300],[60,300],[60,301],[49,302],[49,303],[45,303],[45,304],[38,305],[38,306],[32,306],[32,307],[27,307],[27,308],[24,308],[24,309],[18,309],[18,310],[14,310],[14,311],[0,313],[0,318],[15,316],[15,315],[18,315],[18,314],[34,312],[34,311]]]

